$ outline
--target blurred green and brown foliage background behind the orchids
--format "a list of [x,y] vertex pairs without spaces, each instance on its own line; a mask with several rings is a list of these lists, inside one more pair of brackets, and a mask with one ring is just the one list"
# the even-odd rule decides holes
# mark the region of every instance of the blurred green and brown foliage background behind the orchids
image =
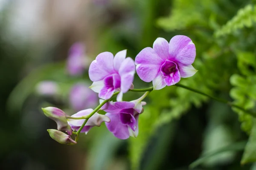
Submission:
[[[190,165],[197,170],[256,170],[248,163],[256,161],[253,116],[183,88],[151,92],[136,139],[116,139],[103,123],[81,134],[74,146],[58,144],[47,132],[56,128],[55,122],[41,111],[55,106],[72,115],[79,110],[74,103],[87,105],[87,70],[99,53],[127,49],[134,59],[157,37],[169,41],[183,34],[195,43],[193,66],[198,73],[180,83],[255,112],[254,4],[0,0],[0,169],[186,170]],[[74,43],[82,47],[82,60],[71,61],[83,63],[82,74],[70,74],[67,68]],[[77,83],[84,90],[72,102]],[[134,86],[147,88],[151,83],[135,75]],[[124,99],[140,95],[129,92]],[[248,164],[241,166],[242,158]]]

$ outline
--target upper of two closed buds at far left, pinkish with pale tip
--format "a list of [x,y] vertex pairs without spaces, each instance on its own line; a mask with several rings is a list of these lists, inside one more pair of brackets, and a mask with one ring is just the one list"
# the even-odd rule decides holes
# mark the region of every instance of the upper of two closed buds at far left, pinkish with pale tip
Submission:
[[54,120],[57,123],[57,129],[61,131],[67,131],[69,135],[72,135],[72,129],[67,123],[66,113],[59,108],[47,107],[42,108],[44,115]]

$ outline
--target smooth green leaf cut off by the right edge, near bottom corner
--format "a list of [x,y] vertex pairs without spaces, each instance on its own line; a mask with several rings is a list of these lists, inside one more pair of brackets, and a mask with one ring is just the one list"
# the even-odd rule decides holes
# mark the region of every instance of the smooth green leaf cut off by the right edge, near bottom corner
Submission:
[[253,127],[249,140],[245,146],[241,164],[256,162],[256,119],[253,118]]

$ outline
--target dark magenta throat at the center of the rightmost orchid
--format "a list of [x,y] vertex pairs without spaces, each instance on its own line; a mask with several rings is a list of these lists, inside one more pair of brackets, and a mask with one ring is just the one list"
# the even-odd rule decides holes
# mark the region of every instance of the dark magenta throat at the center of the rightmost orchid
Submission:
[[161,66],[161,72],[165,77],[173,77],[173,75],[178,71],[175,62],[167,60]]

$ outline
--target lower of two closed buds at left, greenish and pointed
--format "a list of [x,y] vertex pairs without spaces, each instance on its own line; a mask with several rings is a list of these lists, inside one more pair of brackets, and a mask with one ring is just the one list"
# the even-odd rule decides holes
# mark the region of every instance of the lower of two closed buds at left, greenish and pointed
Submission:
[[69,135],[66,133],[63,133],[59,130],[55,129],[47,129],[49,135],[52,139],[59,142],[60,144],[76,144],[76,141],[74,141]]

